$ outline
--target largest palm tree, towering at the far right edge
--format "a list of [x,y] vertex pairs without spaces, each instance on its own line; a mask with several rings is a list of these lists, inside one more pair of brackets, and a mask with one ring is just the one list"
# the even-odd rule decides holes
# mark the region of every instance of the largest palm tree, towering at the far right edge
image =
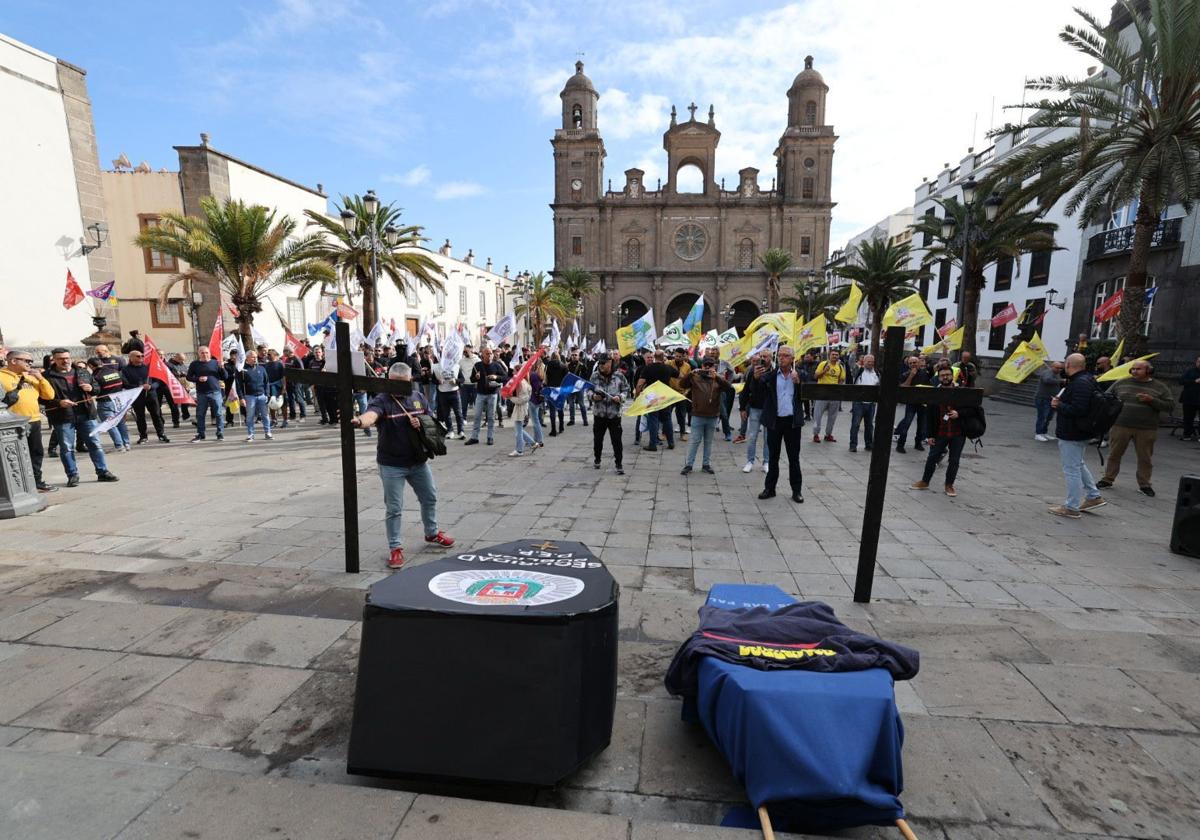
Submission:
[[1069,137],[1030,148],[1006,161],[1004,175],[1036,180],[1027,188],[1043,206],[1070,196],[1067,214],[1082,210],[1086,228],[1115,209],[1136,208],[1118,331],[1133,355],[1142,353],[1146,263],[1154,229],[1171,203],[1187,212],[1200,196],[1200,2],[1148,0],[1120,6],[1135,41],[1076,10],[1086,26],[1058,37],[1104,70],[1088,78],[1044,77],[1026,86],[1052,91],[1032,103],[1025,130],[1069,128]]

